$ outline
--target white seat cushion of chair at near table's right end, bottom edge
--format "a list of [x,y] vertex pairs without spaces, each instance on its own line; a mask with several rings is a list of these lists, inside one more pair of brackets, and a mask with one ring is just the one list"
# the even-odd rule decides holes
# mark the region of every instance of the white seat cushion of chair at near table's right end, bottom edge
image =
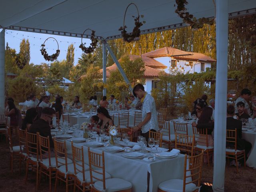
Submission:
[[[183,180],[182,179],[170,179],[164,181],[158,185],[158,188],[166,192],[182,192]],[[185,192],[193,192],[197,187],[194,183],[187,184]]]

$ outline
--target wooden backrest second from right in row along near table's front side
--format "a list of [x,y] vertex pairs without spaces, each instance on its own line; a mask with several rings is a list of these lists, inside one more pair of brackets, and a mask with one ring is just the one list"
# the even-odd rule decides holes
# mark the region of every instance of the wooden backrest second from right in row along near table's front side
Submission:
[[71,142],[71,146],[72,146],[72,157],[73,157],[73,164],[74,164],[74,174],[76,175],[81,172],[83,175],[82,182],[85,182],[84,147],[81,146],[81,148],[78,148],[73,145],[73,142]]

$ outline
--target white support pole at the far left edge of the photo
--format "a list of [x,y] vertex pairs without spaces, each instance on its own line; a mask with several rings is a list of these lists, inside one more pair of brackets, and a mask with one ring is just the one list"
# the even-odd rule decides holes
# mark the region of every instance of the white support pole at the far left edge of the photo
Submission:
[[5,102],[5,75],[4,75],[4,55],[5,55],[5,40],[4,40],[4,32],[3,29],[0,32],[0,108],[4,108]]

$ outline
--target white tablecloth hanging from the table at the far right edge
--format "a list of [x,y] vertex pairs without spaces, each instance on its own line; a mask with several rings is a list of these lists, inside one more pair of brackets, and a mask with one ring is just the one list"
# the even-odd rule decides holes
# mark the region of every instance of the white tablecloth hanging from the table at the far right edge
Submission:
[[246,161],[246,165],[256,169],[256,132],[243,131],[242,138],[252,144],[252,149]]

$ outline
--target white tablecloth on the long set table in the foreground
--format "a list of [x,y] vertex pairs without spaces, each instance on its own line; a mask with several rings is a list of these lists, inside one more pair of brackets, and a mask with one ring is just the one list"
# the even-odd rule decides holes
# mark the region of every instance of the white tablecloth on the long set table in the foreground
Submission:
[[[82,146],[83,143],[76,143]],[[66,142],[68,157],[72,158],[71,142]],[[84,159],[88,164],[88,148],[84,147]],[[101,153],[102,148],[90,148],[90,150]],[[183,177],[184,155],[178,155],[168,160],[156,159],[155,162],[145,162],[144,160],[129,159],[122,156],[125,152],[108,153],[105,152],[105,167],[112,178],[121,178],[132,183],[133,192],[147,191],[147,176],[150,173],[149,191],[156,192],[158,185],[168,179]],[[86,175],[86,177],[89,177]]]

